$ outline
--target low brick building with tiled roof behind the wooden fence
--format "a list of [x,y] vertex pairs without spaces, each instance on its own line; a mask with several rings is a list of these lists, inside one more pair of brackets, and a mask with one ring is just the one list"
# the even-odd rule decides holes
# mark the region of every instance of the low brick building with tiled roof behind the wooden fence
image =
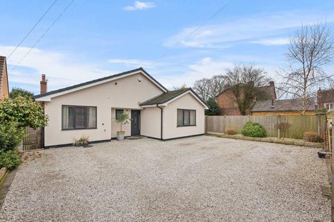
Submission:
[[[253,116],[298,116],[301,115],[302,105],[301,99],[256,101],[250,113]],[[315,115],[314,99],[308,99],[305,115]]]

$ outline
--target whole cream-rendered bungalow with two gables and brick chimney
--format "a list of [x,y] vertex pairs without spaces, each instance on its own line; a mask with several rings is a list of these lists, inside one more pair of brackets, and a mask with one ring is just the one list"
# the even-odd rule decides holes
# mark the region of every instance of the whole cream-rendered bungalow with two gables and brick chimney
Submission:
[[120,112],[132,119],[123,127],[125,136],[166,140],[205,133],[207,105],[193,89],[168,91],[143,68],[44,92],[35,100],[49,116],[46,147],[72,144],[83,135],[92,142],[112,139],[120,130],[115,121]]

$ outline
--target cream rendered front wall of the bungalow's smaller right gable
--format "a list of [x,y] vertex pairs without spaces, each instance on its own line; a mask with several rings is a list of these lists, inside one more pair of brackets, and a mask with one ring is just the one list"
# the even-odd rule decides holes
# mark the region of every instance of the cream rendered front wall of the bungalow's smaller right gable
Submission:
[[[177,109],[196,110],[196,126],[177,127]],[[205,133],[205,108],[191,94],[176,99],[164,107],[163,139],[187,137]]]

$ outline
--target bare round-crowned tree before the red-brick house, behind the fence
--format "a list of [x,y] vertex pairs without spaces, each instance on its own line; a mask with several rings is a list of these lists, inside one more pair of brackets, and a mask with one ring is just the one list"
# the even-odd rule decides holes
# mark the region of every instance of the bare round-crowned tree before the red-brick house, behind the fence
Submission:
[[253,65],[236,65],[224,75],[225,83],[233,94],[232,99],[237,102],[242,115],[248,113],[255,99],[269,99],[264,98],[268,95],[260,88],[269,83],[266,75],[263,69]]

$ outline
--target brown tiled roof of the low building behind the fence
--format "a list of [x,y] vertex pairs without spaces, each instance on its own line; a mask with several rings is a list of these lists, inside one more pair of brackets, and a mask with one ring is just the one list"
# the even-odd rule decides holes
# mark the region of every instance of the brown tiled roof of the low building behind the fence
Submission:
[[[301,99],[256,101],[252,112],[299,111],[301,110],[302,105],[303,101]],[[315,110],[314,99],[308,99],[307,110]]]

